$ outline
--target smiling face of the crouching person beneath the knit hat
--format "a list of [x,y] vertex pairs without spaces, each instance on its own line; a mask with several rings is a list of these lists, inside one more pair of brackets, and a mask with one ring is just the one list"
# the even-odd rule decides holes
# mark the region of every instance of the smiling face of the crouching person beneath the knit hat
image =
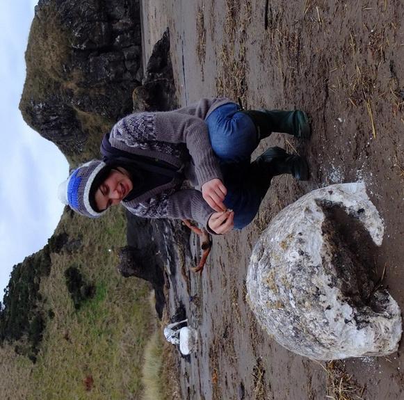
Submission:
[[133,189],[129,173],[124,168],[118,167],[111,170],[108,177],[95,191],[95,204],[99,211],[104,211],[111,205],[119,204]]

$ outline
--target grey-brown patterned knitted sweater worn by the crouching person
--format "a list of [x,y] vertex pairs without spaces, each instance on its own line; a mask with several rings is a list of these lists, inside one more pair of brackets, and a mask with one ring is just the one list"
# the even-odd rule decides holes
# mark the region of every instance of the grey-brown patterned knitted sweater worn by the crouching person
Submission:
[[202,198],[200,187],[211,179],[223,177],[204,119],[218,106],[229,102],[225,98],[201,99],[175,111],[134,113],[117,122],[109,136],[113,147],[183,168],[186,179],[194,187],[182,189],[181,182],[172,179],[122,205],[137,216],[192,219],[207,227],[215,211]]

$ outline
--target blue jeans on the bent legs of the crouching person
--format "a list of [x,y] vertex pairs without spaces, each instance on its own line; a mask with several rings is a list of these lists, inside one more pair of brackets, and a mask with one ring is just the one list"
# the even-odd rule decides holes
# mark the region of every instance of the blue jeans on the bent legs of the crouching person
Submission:
[[257,147],[257,131],[240,106],[227,103],[205,120],[213,152],[220,162],[227,188],[225,206],[234,211],[234,227],[242,229],[257,214],[261,194],[250,177],[251,154]]

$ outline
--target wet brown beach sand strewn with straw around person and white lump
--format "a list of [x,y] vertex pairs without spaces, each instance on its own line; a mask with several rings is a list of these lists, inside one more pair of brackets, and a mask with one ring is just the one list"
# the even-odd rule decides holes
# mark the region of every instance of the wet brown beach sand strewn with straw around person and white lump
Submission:
[[[170,29],[181,105],[236,95],[250,108],[303,109],[313,131],[307,143],[273,134],[256,151],[279,145],[304,154],[309,182],[276,177],[249,227],[213,238],[202,275],[189,271],[200,257],[191,235],[194,259],[186,257],[170,277],[170,312],[184,303],[200,333],[191,361],[179,358],[183,399],[325,399],[323,367],[270,339],[245,303],[248,261],[259,234],[277,212],[313,189],[366,183],[385,221],[375,267],[381,275],[386,266],[383,284],[404,307],[404,4],[362,3],[270,1],[266,10],[266,1],[147,2],[153,10],[144,22],[150,45],[163,24]],[[386,358],[344,361],[358,387],[365,386],[363,399],[404,398],[401,350],[402,344]]]

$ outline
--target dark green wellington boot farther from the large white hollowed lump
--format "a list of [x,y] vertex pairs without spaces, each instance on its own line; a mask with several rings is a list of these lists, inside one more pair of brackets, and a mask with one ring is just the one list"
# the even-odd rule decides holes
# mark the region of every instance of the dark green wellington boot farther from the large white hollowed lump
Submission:
[[308,139],[311,135],[309,118],[305,111],[243,110],[250,116],[257,129],[258,140],[267,138],[272,132],[291,134]]

